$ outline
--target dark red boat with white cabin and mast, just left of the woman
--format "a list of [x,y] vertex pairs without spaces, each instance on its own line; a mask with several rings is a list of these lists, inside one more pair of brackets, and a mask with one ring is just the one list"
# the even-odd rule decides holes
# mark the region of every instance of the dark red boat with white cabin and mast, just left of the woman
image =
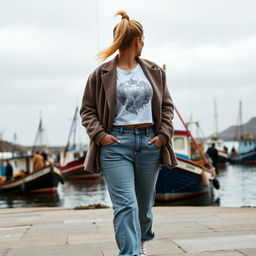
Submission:
[[[84,170],[86,150],[77,147],[75,143],[78,107],[76,107],[68,141],[63,152],[60,152],[60,170],[65,179],[97,179],[100,174],[94,174]],[[70,140],[73,135],[73,144]]]

